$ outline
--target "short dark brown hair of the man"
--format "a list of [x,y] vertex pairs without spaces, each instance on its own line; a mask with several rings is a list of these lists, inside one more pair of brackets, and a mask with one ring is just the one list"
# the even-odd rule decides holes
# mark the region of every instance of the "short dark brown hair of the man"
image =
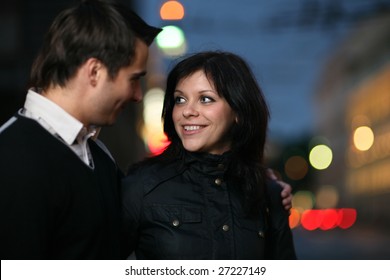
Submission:
[[64,86],[92,57],[114,78],[120,68],[131,64],[135,40],[149,46],[160,31],[123,4],[81,1],[54,19],[33,63],[30,86]]

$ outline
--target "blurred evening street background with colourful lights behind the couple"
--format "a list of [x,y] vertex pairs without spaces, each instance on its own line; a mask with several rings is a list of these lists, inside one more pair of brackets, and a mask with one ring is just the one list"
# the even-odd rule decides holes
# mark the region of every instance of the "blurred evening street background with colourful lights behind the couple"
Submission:
[[[0,124],[23,105],[53,17],[75,2],[1,4]],[[390,0],[122,2],[164,28],[144,102],[100,134],[124,171],[166,145],[161,102],[176,59],[232,51],[270,106],[267,165],[293,187],[298,258],[390,259]]]

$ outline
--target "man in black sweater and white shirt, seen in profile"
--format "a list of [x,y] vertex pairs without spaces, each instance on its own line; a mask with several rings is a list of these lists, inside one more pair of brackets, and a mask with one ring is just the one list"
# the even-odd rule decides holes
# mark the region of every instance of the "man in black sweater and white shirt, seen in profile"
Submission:
[[119,259],[119,170],[92,138],[142,99],[161,31],[118,4],[54,20],[24,108],[0,128],[1,259]]

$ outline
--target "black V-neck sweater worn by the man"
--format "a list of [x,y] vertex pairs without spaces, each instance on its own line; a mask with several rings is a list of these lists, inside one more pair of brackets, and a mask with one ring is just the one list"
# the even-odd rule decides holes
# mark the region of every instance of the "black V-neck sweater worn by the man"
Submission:
[[119,172],[89,140],[86,166],[36,121],[0,132],[1,259],[119,259]]

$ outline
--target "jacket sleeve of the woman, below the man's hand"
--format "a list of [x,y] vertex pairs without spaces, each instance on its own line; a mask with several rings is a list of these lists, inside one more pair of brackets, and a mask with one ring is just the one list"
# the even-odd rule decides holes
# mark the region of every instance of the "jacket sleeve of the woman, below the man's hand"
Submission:
[[297,259],[292,232],[289,226],[289,214],[283,208],[282,188],[274,181],[267,184],[268,204],[268,244],[267,255],[271,259]]

